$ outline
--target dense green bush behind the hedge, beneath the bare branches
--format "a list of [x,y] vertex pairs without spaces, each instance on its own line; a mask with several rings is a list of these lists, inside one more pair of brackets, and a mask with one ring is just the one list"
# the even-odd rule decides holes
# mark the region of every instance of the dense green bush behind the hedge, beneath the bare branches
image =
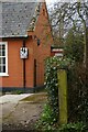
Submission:
[[70,29],[65,38],[65,55],[75,62],[84,61],[84,36]]

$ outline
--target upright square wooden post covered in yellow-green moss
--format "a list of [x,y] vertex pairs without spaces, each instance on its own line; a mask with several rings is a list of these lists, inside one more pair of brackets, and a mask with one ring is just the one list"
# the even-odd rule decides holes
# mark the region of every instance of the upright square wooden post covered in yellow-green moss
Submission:
[[67,123],[67,73],[65,69],[58,69],[58,106],[59,124]]

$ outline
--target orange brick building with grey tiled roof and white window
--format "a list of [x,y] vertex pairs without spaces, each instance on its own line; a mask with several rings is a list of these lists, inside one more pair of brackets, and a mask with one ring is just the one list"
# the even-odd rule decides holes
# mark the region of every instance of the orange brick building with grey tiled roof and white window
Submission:
[[45,2],[2,2],[0,89],[30,90],[44,85],[44,59],[53,37]]

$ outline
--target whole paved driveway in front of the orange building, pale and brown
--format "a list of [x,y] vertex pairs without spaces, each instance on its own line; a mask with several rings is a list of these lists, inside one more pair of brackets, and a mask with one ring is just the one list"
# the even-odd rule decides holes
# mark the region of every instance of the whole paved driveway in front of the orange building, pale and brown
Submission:
[[[45,103],[45,94],[6,95],[0,97],[2,132],[34,130]],[[42,100],[40,101],[40,98]],[[44,98],[43,98],[44,97]],[[25,100],[23,100],[25,98]],[[31,100],[29,100],[31,98]],[[38,98],[38,100],[37,100]],[[34,99],[34,100],[33,100]],[[2,122],[1,122],[2,121]]]

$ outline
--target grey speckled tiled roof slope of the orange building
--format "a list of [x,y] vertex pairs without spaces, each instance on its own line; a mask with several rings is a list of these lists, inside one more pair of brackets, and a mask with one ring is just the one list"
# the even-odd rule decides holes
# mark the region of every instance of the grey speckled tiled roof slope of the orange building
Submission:
[[2,2],[0,36],[25,36],[28,30],[34,29],[40,7],[36,2]]

